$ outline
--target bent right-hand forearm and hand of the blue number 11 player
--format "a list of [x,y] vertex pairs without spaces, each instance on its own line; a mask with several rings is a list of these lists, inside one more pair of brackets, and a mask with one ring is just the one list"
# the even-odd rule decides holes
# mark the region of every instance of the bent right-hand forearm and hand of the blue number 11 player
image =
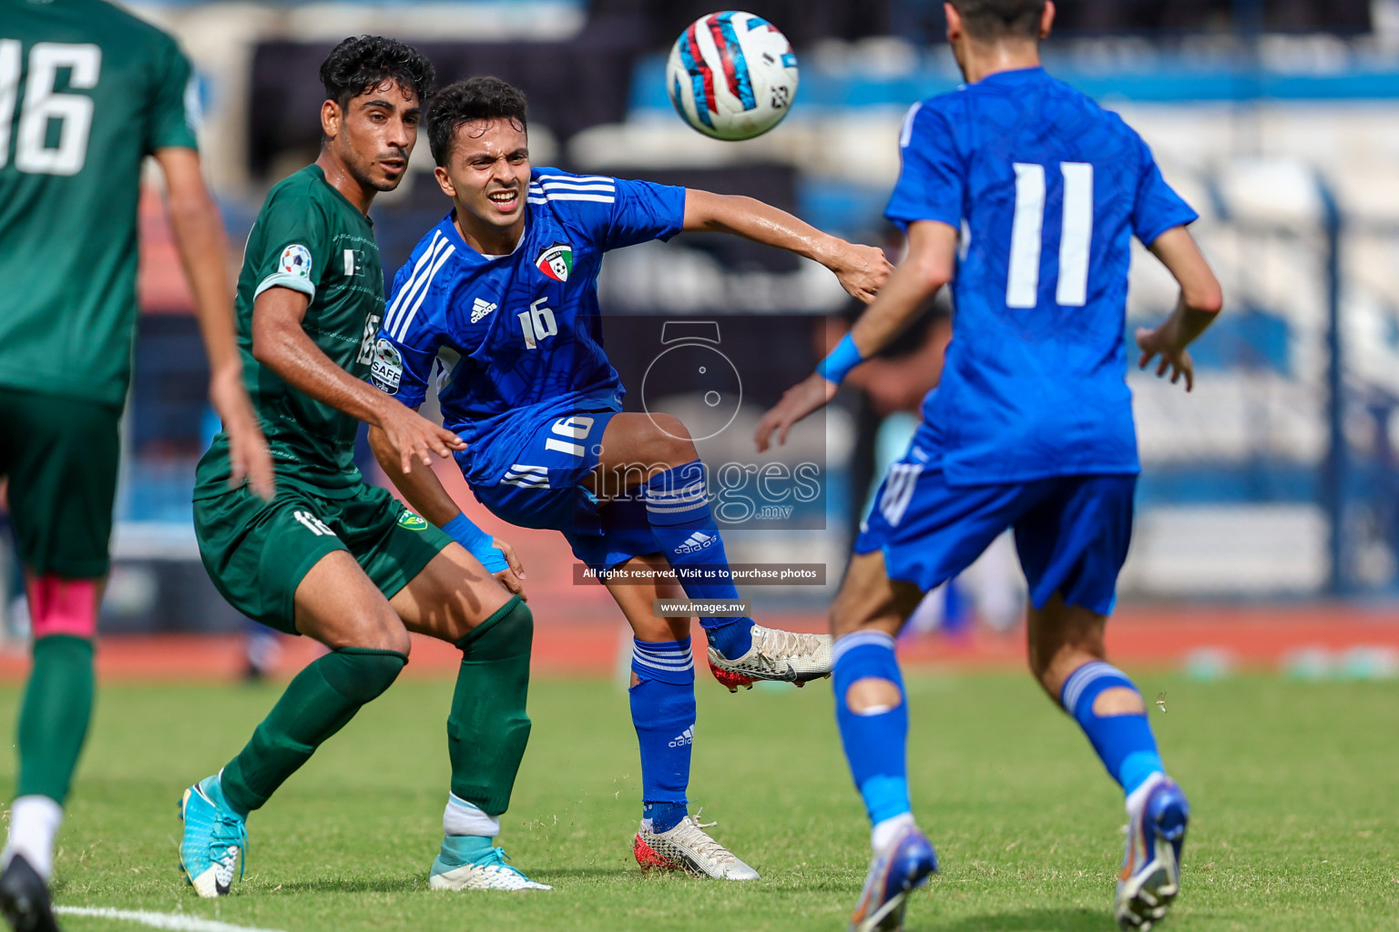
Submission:
[[1137,327],[1136,341],[1142,356],[1137,366],[1146,369],[1160,356],[1157,376],[1171,373],[1171,384],[1185,377],[1185,390],[1195,387],[1195,363],[1186,347],[1214,323],[1224,306],[1224,292],[1210,271],[1191,231],[1172,226],[1147,247],[1181,284],[1181,298],[1175,310],[1160,327]]

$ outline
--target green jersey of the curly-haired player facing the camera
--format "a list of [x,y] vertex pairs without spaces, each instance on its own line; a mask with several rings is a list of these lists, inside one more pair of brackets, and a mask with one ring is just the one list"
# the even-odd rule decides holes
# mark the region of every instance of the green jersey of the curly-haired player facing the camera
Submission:
[[[267,435],[277,482],[292,481],[326,497],[353,495],[364,481],[354,465],[360,422],[288,386],[253,359],[253,302],[269,288],[311,298],[301,321],[330,359],[355,376],[369,373],[383,320],[383,270],[369,218],[308,165],[280,182],[257,214],[238,277],[238,348],[243,380]],[[228,489],[228,439],[220,433],[199,464],[194,497]]]

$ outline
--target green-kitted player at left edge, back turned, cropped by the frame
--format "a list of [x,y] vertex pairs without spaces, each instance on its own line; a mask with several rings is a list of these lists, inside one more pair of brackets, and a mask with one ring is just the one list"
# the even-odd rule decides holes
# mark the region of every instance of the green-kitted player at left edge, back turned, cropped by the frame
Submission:
[[271,495],[243,391],[227,243],[175,41],[102,0],[0,0],[0,478],[25,570],[34,669],[20,713],[0,911],[53,929],[53,838],[92,708],[137,296],[141,166],[159,163],[208,352],[229,481]]

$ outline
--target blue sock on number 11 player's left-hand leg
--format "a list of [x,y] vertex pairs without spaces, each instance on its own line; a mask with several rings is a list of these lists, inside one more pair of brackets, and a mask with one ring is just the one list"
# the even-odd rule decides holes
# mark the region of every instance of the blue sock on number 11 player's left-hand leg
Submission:
[[[898,706],[874,714],[851,711],[845,693],[856,680],[887,679],[898,686]],[[841,729],[851,776],[865,798],[870,823],[911,812],[908,803],[908,700],[894,658],[894,639],[884,632],[856,632],[835,641],[835,724]]]

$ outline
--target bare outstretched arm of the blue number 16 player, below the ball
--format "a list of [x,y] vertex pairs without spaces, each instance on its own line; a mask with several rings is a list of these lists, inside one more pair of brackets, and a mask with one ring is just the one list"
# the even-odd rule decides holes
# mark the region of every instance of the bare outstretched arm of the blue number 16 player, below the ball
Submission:
[[814,259],[835,272],[841,286],[866,305],[874,300],[874,293],[894,270],[884,257],[884,250],[846,243],[751,197],[687,189],[686,219],[681,229],[733,233]]

